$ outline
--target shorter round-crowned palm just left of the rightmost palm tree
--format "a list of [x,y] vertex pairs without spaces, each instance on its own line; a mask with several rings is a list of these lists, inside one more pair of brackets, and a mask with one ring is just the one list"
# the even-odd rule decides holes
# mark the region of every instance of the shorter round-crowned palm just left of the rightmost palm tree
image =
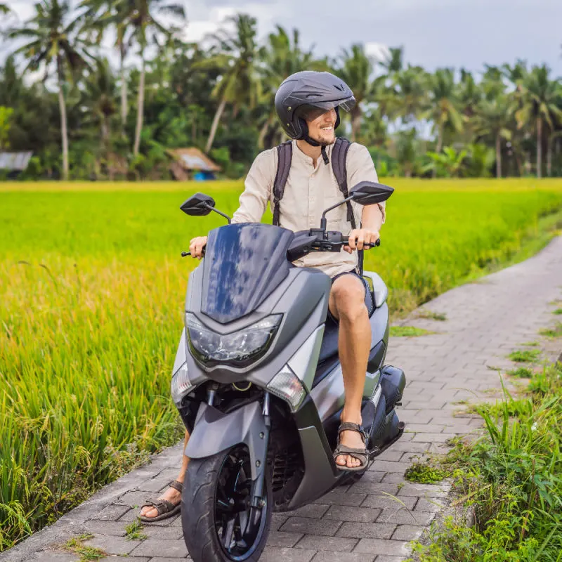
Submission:
[[483,99],[476,108],[475,129],[478,136],[489,135],[495,141],[496,177],[502,177],[502,138],[511,139],[511,102],[505,94]]

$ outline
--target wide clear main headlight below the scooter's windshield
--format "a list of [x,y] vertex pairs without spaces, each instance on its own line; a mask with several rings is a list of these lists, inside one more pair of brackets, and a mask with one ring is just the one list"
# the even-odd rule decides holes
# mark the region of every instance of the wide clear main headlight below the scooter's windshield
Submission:
[[195,315],[186,313],[185,328],[191,353],[201,362],[246,367],[268,351],[281,319],[282,314],[273,314],[232,334],[217,334],[202,325]]

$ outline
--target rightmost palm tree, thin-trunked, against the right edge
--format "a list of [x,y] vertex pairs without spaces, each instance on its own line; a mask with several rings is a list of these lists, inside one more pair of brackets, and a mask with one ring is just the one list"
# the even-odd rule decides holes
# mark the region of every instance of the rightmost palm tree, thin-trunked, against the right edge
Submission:
[[537,131],[537,178],[542,177],[543,127],[546,123],[554,130],[554,120],[562,119],[562,110],[557,103],[560,99],[560,83],[549,79],[547,65],[532,67],[521,83],[521,107],[516,111],[518,127],[532,124]]

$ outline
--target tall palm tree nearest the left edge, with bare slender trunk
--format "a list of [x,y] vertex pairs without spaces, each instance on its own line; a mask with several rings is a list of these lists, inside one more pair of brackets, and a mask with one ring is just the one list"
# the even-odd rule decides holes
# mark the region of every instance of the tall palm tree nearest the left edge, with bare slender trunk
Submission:
[[70,20],[71,8],[67,0],[41,0],[34,6],[35,14],[23,27],[8,30],[9,39],[30,39],[15,53],[22,54],[29,62],[27,70],[44,66],[45,77],[55,72],[58,84],[60,109],[60,133],[63,141],[63,178],[68,179],[68,133],[64,84],[70,75],[88,67],[89,46],[77,34],[78,20]]

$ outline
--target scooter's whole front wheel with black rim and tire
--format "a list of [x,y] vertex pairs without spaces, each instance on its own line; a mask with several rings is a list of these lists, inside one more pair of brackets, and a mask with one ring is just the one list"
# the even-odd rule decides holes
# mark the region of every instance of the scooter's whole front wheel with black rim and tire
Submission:
[[190,460],[181,497],[181,524],[194,562],[259,560],[273,507],[267,469],[261,507],[252,507],[254,485],[244,445]]

